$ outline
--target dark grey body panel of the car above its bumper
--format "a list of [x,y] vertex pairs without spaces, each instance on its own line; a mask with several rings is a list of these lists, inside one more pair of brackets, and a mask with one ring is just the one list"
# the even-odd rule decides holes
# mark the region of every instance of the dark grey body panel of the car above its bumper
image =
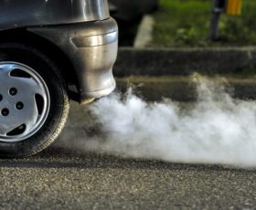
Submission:
[[107,0],[0,0],[0,30],[107,19]]

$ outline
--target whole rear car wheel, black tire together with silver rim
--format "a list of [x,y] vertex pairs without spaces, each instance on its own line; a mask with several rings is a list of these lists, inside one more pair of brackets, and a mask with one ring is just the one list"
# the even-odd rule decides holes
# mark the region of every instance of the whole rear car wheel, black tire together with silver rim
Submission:
[[0,157],[41,152],[69,115],[60,69],[34,47],[0,44]]

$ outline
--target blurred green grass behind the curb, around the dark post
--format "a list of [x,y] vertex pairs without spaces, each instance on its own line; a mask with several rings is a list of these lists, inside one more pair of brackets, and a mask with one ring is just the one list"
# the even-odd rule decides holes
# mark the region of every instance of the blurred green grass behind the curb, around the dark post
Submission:
[[241,16],[222,15],[219,40],[208,41],[210,0],[160,0],[151,47],[249,46],[256,44],[256,1],[243,0]]

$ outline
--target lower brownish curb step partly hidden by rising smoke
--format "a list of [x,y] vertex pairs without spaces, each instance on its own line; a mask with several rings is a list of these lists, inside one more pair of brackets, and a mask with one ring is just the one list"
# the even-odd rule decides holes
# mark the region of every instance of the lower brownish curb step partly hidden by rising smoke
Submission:
[[[239,100],[256,100],[256,80],[251,78],[209,77],[221,84],[229,95]],[[117,78],[117,91],[125,93],[133,87],[133,93],[146,101],[171,99],[190,102],[197,100],[197,84],[191,77],[128,77]],[[224,82],[225,81],[225,82]],[[220,82],[220,83],[218,83]]]

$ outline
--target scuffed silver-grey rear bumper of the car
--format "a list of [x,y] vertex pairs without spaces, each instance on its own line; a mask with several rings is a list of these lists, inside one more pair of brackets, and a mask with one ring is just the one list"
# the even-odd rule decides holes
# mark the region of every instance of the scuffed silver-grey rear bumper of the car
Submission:
[[117,57],[118,28],[112,18],[27,29],[47,38],[69,57],[79,81],[81,103],[108,95],[115,88],[112,66]]

